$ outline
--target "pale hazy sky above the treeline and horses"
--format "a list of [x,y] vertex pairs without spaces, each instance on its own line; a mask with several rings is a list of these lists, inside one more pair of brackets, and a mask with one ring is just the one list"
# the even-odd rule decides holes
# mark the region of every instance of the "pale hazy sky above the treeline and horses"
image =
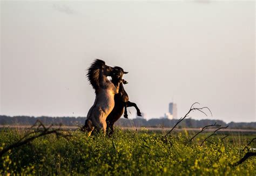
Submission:
[[174,98],[179,117],[198,101],[210,119],[256,121],[254,1],[1,1],[0,114],[86,116],[96,58],[129,71],[147,119]]

